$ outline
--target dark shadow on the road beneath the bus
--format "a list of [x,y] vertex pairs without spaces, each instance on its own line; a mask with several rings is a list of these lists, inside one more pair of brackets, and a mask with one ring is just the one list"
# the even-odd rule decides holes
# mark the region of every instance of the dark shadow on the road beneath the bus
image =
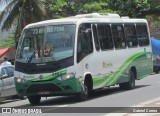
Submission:
[[[143,88],[146,86],[150,86],[150,85],[137,85],[135,87],[135,89],[139,89],[139,88]],[[133,90],[129,90],[129,91],[134,91]],[[89,97],[88,100],[93,100],[93,99],[97,99],[100,97],[105,97],[105,96],[110,96],[113,94],[119,94],[122,92],[126,92],[125,90],[121,90],[118,86],[116,87],[111,87],[111,88],[104,88],[101,90],[96,90],[93,94],[91,94],[91,96]],[[64,105],[64,104],[75,104],[80,102],[75,96],[62,96],[62,97],[56,97],[56,98],[50,98],[50,99],[46,99],[46,100],[42,100],[41,103],[38,106],[54,106],[54,105]],[[24,107],[30,107],[30,104],[26,104],[24,105]],[[23,107],[23,106],[20,106]]]

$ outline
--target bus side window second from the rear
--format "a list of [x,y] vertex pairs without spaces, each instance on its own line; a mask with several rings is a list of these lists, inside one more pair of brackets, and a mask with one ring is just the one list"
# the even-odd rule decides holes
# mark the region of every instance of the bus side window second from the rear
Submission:
[[136,47],[138,45],[138,41],[134,24],[125,24],[124,32],[128,47]]

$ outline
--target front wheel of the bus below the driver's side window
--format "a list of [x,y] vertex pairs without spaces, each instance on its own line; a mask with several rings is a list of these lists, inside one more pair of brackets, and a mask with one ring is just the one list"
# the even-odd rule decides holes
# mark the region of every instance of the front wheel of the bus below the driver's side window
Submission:
[[81,91],[81,93],[78,93],[77,97],[80,101],[85,101],[88,99],[88,96],[89,96],[88,85],[85,82],[83,85],[83,90]]

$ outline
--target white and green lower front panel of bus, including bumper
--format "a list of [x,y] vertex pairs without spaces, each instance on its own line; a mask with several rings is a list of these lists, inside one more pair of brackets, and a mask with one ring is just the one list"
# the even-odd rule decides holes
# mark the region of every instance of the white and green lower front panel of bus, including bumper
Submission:
[[53,73],[24,74],[15,71],[15,77],[22,77],[23,83],[16,83],[16,89],[20,96],[41,95],[68,95],[81,92],[81,83],[78,78],[68,80],[57,79],[67,73],[75,73],[73,66]]

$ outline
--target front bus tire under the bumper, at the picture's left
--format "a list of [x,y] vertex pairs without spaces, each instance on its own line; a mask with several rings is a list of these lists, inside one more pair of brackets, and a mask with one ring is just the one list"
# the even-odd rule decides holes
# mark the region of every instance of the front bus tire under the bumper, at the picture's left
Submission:
[[38,105],[41,101],[41,96],[28,96],[31,105]]

